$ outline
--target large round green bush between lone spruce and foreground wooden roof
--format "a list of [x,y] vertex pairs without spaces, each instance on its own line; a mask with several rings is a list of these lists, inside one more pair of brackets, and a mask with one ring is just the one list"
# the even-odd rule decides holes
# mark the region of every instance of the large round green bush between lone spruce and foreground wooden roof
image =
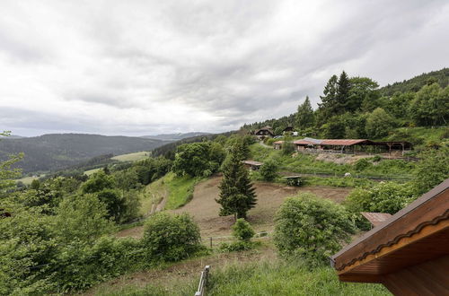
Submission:
[[281,257],[302,257],[310,265],[327,263],[356,231],[343,206],[309,193],[287,198],[275,222],[274,243]]

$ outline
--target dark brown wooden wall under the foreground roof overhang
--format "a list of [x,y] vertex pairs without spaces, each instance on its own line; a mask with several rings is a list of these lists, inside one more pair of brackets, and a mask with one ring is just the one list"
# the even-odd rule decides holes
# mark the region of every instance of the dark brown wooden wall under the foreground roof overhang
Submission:
[[449,256],[383,275],[382,283],[394,295],[449,295]]

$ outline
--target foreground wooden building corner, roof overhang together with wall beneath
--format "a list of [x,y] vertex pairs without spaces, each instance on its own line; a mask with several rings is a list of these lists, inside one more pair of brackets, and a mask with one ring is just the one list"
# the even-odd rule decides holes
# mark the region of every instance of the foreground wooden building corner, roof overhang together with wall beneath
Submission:
[[330,258],[341,282],[449,295],[449,178]]

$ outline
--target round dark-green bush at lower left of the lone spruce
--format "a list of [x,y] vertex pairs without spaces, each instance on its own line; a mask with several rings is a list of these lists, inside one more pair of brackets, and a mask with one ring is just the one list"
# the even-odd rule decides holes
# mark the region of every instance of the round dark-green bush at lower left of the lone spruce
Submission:
[[149,261],[178,261],[201,249],[198,225],[187,213],[151,216],[142,243]]

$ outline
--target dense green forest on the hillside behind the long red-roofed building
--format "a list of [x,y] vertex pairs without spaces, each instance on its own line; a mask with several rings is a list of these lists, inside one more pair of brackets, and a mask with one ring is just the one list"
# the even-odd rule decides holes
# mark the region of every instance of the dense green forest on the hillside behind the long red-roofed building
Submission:
[[[324,86],[318,109],[309,98],[290,116],[245,124],[254,131],[272,126],[281,135],[295,126],[300,135],[322,138],[398,138],[413,142],[411,135],[395,135],[398,127],[447,126],[449,120],[449,69],[421,74],[383,88],[368,77],[332,75]],[[407,133],[406,133],[407,134]]]

